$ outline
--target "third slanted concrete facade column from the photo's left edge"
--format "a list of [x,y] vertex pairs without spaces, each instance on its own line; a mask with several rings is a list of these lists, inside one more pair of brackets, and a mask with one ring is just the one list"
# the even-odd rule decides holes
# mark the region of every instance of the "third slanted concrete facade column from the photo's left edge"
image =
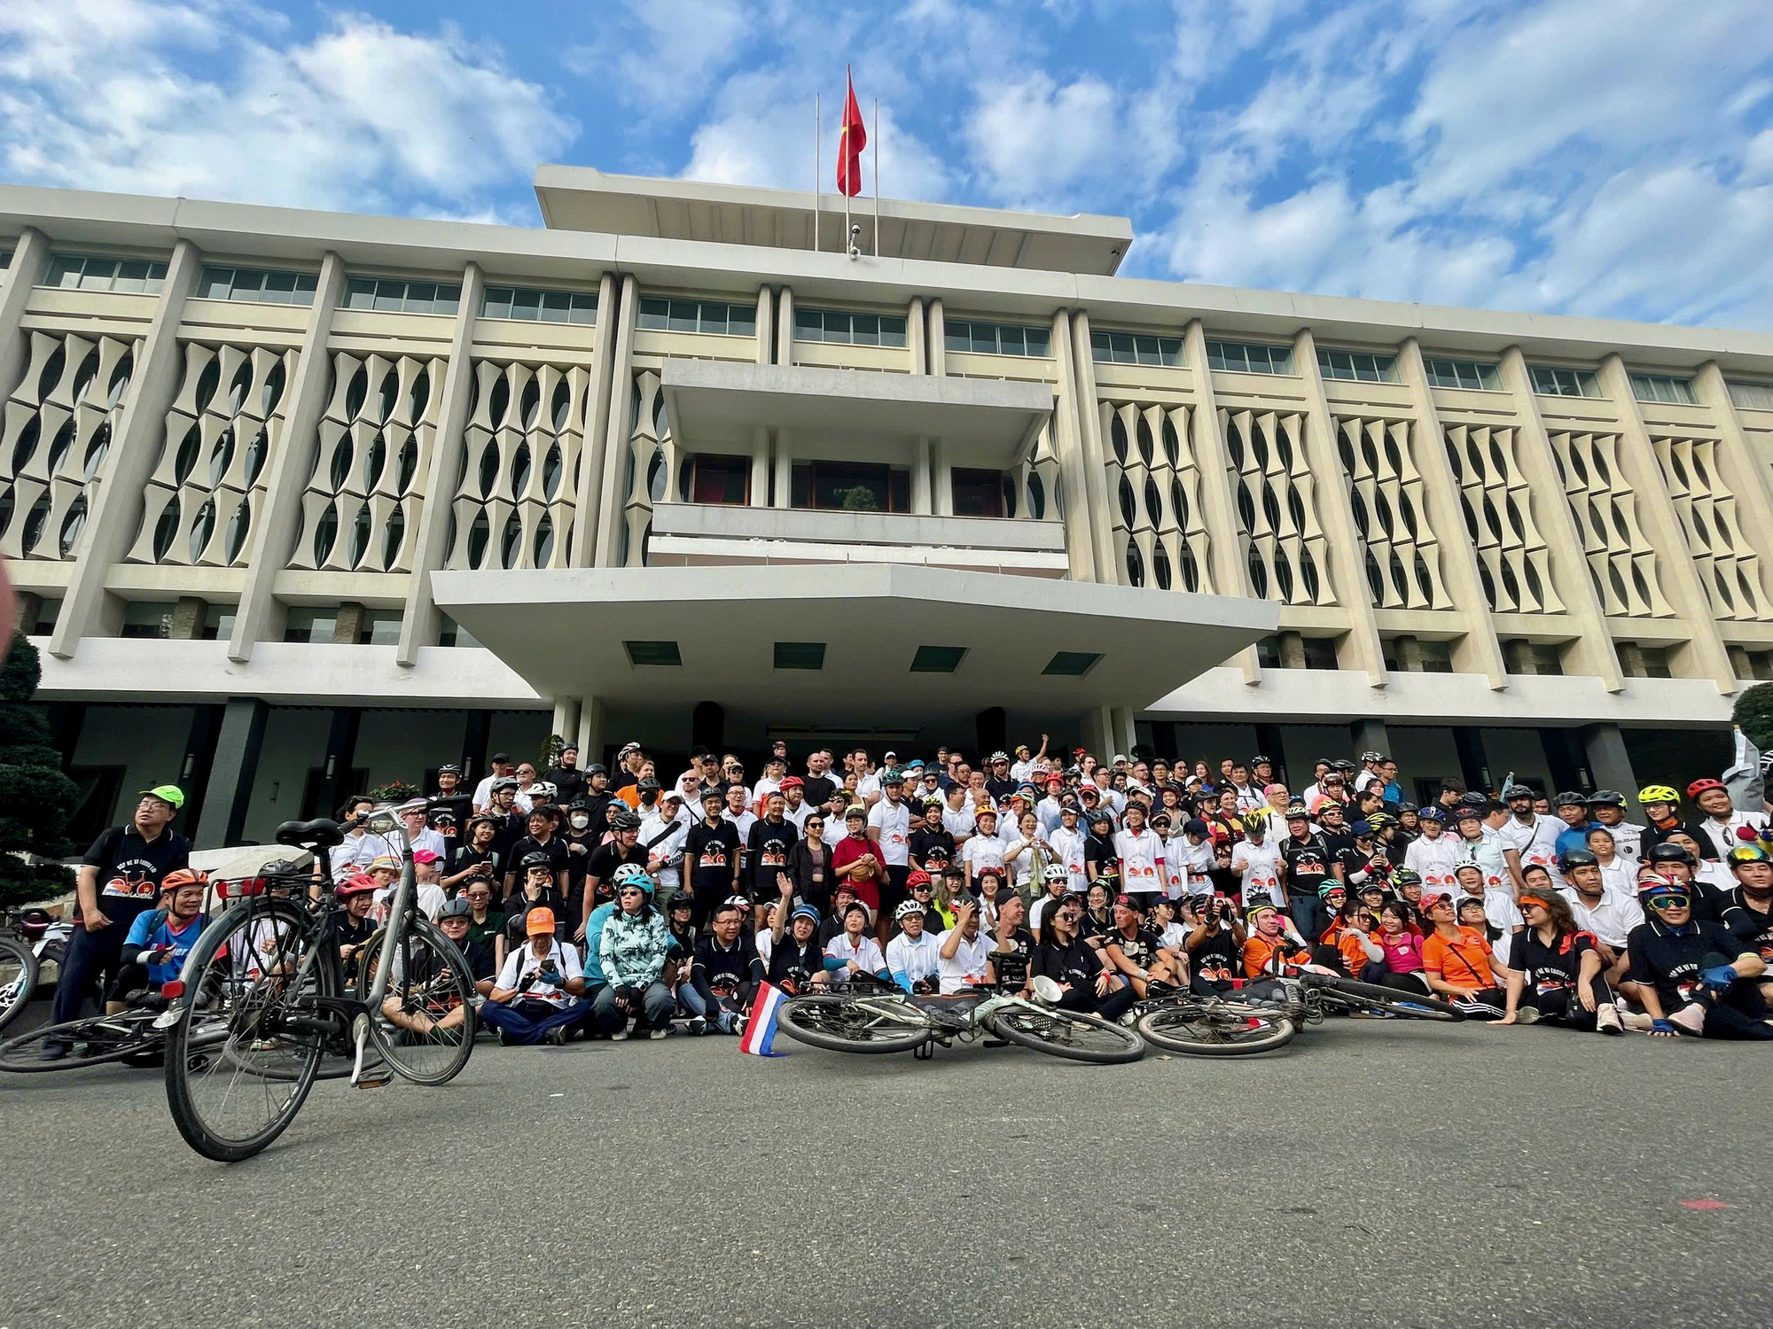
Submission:
[[326,395],[332,386],[332,356],[326,353],[326,340],[332,337],[333,310],[339,308],[342,294],[344,259],[328,253],[321,260],[314,308],[309,312],[309,326],[301,333],[296,379],[289,385],[289,415],[284,422],[282,447],[271,459],[264,507],[248,537],[246,587],[239,594],[234,634],[227,647],[227,657],[236,664],[252,659],[254,643],[264,640],[271,629],[275,617],[271,613],[271,587],[294,548],[296,523],[301,519],[301,489],[307,486],[309,462],[319,447],[321,411],[326,409]]

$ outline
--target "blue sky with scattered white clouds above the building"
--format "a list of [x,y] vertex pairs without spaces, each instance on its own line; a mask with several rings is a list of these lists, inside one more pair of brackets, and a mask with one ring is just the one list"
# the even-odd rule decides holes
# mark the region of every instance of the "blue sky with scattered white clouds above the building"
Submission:
[[[1773,328],[1773,0],[4,0],[0,177],[539,225],[537,161],[1117,213],[1122,271]],[[865,170],[872,172],[872,167]]]

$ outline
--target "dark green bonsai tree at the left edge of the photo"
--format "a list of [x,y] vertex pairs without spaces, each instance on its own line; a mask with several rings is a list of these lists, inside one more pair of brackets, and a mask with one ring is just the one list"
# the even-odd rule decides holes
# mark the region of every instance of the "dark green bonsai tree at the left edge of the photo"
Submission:
[[43,679],[37,649],[23,633],[0,664],[0,905],[66,895],[74,874],[60,859],[74,852],[67,817],[80,790],[62,773],[50,727],[30,703]]

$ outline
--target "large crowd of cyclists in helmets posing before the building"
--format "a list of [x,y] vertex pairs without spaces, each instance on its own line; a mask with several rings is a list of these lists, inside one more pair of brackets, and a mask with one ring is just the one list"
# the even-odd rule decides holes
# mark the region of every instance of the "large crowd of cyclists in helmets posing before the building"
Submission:
[[[181,803],[145,790],[87,854],[59,1019],[176,973],[200,927],[179,898]],[[796,766],[777,742],[755,774],[699,748],[668,783],[637,742],[613,769],[571,746],[543,771],[496,753],[473,789],[441,767],[401,817],[418,907],[505,1044],[738,1033],[766,982],[959,994],[1046,976],[1067,1008],[1119,1019],[1289,968],[1496,1024],[1773,1038],[1769,804],[1738,808],[1720,780],[1647,785],[1638,804],[1642,824],[1619,790],[1445,780],[1417,806],[1378,751],[1317,760],[1293,790],[1262,755],[1097,760],[1043,735],[979,766],[949,748]],[[344,842],[314,868],[346,960],[401,872],[374,806],[339,810]]]

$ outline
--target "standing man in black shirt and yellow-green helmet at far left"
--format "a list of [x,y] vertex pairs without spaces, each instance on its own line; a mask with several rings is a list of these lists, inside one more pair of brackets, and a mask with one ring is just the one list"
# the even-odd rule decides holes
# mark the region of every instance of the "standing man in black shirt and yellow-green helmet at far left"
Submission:
[[[135,815],[103,831],[74,875],[76,927],[55,978],[50,1021],[64,1024],[80,1015],[89,992],[103,992],[122,971],[124,939],[137,916],[154,907],[160,882],[168,872],[191,865],[191,842],[172,829],[184,806],[177,785],[144,789]],[[60,1060],[67,1044],[46,1042],[44,1060]]]

